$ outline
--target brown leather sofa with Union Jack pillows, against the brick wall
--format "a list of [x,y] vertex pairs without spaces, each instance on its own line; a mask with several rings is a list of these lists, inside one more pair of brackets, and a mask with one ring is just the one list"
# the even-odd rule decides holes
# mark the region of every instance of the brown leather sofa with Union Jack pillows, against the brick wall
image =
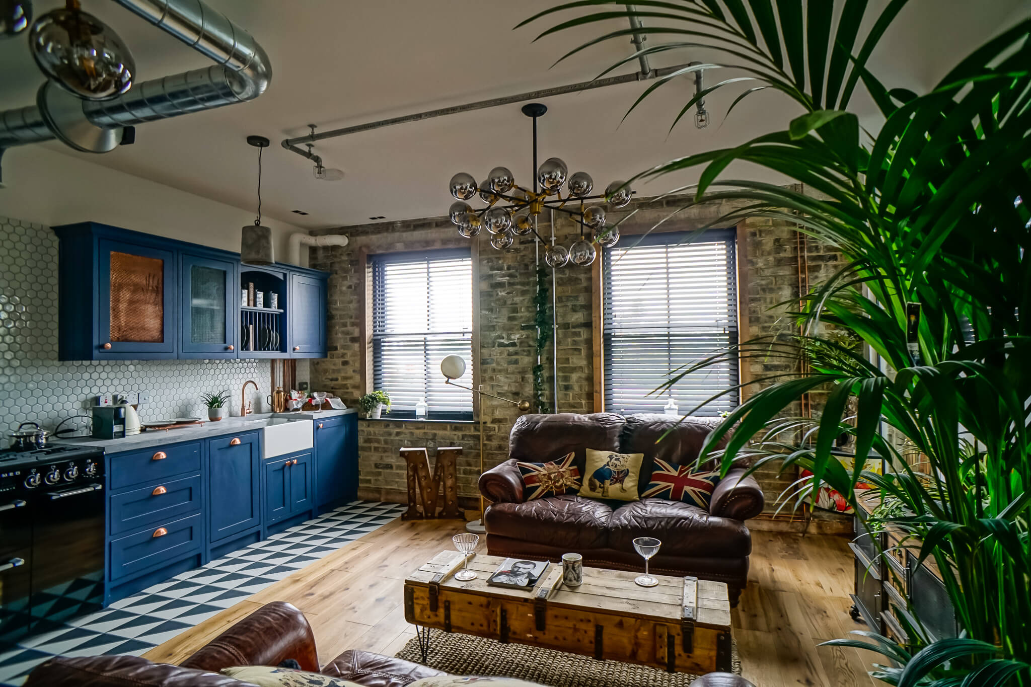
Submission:
[[479,478],[479,490],[492,502],[484,512],[488,552],[550,560],[572,552],[581,554],[586,565],[640,571],[643,561],[632,542],[656,537],[662,548],[650,563],[653,572],[726,582],[736,606],[749,579],[752,552],[744,521],[759,515],[764,504],[756,480],[743,477],[746,463],[735,461],[717,485],[708,511],[665,499],[603,502],[562,495],[527,502],[516,467],[517,461],[546,462],[573,451],[583,475],[588,448],[643,453],[640,493],[655,458],[675,466],[694,463],[705,437],[720,421],[616,413],[523,415],[512,425],[509,459]]

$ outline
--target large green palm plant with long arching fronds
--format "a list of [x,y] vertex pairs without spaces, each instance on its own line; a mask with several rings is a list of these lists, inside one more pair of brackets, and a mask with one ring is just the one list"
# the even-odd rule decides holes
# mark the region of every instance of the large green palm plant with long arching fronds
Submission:
[[[642,0],[636,8],[580,0],[526,23],[578,12],[546,35],[636,15],[656,23],[645,33],[671,38],[609,69],[683,48],[726,59],[658,79],[638,102],[679,73],[732,66],[756,80],[732,108],[761,89],[798,103],[802,113],[784,131],[677,158],[636,177],[698,168],[693,202],[738,205],[713,225],[752,216],[786,220],[847,259],[793,313],[802,325],[798,337],[717,351],[674,371],[667,386],[728,356],[804,357],[800,372],[751,382],[758,390],[710,435],[702,457],[736,425],[722,452],[725,470],[749,453],[754,469],[778,462],[810,471],[799,496],[826,483],[856,505],[863,480],[892,502],[878,511],[880,524],[919,538],[921,558],[934,558],[962,633],[933,638],[918,619],[911,646],[870,632],[861,633],[866,641],[833,642],[888,657],[892,664],[877,666],[875,677],[903,687],[1029,685],[1031,324],[1023,315],[1031,310],[1025,257],[1031,212],[1023,199],[1031,202],[1031,21],[988,41],[918,95],[886,88],[866,68],[905,0],[889,2],[860,43],[866,1],[839,4],[836,28],[834,3],[812,0],[804,6],[801,0]],[[563,59],[631,32],[608,32]],[[674,126],[700,97],[741,82],[726,79],[697,94]],[[847,110],[860,82],[884,115],[877,131],[862,132]],[[796,179],[810,193],[723,178],[738,160]],[[841,345],[828,325],[858,337],[884,365]],[[783,417],[818,388],[828,390],[820,418]],[[841,421],[853,397],[854,425]],[[905,460],[886,427],[924,456],[926,472]],[[830,453],[842,432],[856,438],[851,470]],[[866,470],[882,456],[893,472]]]

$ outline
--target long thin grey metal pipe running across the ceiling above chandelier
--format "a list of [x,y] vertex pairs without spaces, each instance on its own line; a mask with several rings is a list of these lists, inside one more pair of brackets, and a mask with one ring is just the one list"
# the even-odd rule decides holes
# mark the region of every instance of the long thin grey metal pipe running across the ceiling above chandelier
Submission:
[[[636,11],[634,5],[627,5],[627,11],[630,14],[630,28],[634,29],[632,42],[638,51],[642,49],[644,44],[644,35],[638,33],[636,30],[642,29],[643,25],[640,20],[633,14]],[[329,131],[323,131],[320,133],[314,133],[313,131],[307,136],[298,136],[297,138],[285,139],[281,143],[282,147],[287,148],[291,152],[296,152],[302,158],[307,158],[308,160],[314,162],[315,164],[322,164],[322,158],[314,154],[310,150],[305,150],[304,148],[298,147],[299,145],[304,145],[307,143],[314,143],[317,141],[324,141],[329,138],[339,138],[341,136],[350,136],[352,134],[360,134],[365,131],[372,131],[374,129],[383,129],[384,127],[393,127],[399,124],[408,124],[410,122],[422,122],[423,119],[432,119],[438,116],[447,116],[450,114],[458,114],[460,112],[471,112],[473,110],[487,109],[489,107],[498,107],[501,105],[513,105],[516,103],[522,103],[529,100],[540,100],[542,98],[551,98],[553,96],[563,96],[569,93],[578,93],[580,91],[591,91],[592,89],[604,89],[609,85],[618,85],[620,83],[630,83],[632,81],[643,81],[648,79],[661,78],[672,74],[673,72],[686,69],[691,65],[697,65],[697,62],[692,62],[690,64],[681,64],[673,67],[662,67],[661,69],[652,69],[648,64],[647,56],[638,56],[638,62],[640,63],[641,70],[639,72],[634,72],[633,74],[623,74],[621,76],[609,76],[607,78],[596,78],[590,81],[580,81],[578,83],[570,83],[568,85],[558,85],[552,89],[541,89],[539,91],[530,91],[528,93],[520,93],[514,96],[502,96],[501,98],[492,98],[490,100],[478,100],[474,103],[466,103],[465,105],[453,105],[452,107],[441,107],[435,110],[427,110],[425,112],[417,112],[414,114],[404,114],[402,116],[390,117],[388,119],[379,119],[377,122],[369,122],[366,124],[356,125],[354,127],[343,127],[342,129],[332,129]]]

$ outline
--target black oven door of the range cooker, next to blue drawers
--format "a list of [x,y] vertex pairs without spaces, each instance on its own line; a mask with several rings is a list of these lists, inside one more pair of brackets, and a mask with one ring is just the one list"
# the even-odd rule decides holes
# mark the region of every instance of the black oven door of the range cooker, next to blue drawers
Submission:
[[33,632],[98,611],[104,602],[104,491],[79,483],[35,494]]

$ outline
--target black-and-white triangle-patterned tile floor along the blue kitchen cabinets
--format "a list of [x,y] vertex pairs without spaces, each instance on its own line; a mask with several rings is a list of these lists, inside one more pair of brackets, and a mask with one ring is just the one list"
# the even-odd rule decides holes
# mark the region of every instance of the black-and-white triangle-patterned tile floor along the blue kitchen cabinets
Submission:
[[273,582],[381,527],[396,504],[355,502],[264,542],[233,551],[89,615],[53,623],[18,645],[0,645],[0,687],[21,685],[55,655],[138,656]]

